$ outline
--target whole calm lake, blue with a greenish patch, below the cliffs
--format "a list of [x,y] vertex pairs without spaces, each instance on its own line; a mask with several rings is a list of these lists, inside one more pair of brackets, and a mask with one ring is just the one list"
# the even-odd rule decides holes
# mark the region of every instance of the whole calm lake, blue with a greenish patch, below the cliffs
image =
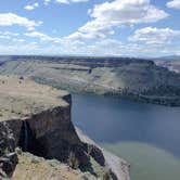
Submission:
[[132,180],[180,179],[180,107],[73,94],[72,118],[91,139],[131,164]]

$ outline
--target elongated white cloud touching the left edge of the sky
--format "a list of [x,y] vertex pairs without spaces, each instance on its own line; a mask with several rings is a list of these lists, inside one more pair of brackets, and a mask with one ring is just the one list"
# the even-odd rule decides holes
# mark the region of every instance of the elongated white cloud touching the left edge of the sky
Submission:
[[0,26],[18,25],[24,26],[28,30],[33,30],[36,26],[39,26],[42,22],[30,21],[26,17],[18,16],[13,13],[0,14]]

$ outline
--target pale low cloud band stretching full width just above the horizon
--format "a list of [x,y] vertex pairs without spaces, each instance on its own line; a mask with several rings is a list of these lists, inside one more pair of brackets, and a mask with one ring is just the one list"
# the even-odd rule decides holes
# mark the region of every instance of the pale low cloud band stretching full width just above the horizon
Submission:
[[180,52],[176,47],[153,47],[151,44],[123,43],[116,39],[102,39],[94,43],[78,41],[62,41],[60,46],[43,42],[21,42],[11,46],[0,44],[0,54],[67,54],[67,55],[123,55],[123,56],[155,56],[177,54]]

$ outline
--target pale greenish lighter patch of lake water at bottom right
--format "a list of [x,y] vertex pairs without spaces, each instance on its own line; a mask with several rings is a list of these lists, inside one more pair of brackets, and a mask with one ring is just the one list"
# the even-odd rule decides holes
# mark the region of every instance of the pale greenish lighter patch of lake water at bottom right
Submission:
[[132,180],[179,180],[180,160],[162,149],[138,142],[101,145],[131,164]]

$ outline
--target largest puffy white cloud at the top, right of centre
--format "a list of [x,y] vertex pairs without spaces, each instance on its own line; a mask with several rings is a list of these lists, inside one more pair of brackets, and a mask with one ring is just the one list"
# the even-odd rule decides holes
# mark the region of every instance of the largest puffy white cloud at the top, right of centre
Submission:
[[137,24],[157,22],[167,16],[163,10],[150,4],[150,0],[115,0],[94,5],[89,11],[98,21],[111,21],[114,24]]

